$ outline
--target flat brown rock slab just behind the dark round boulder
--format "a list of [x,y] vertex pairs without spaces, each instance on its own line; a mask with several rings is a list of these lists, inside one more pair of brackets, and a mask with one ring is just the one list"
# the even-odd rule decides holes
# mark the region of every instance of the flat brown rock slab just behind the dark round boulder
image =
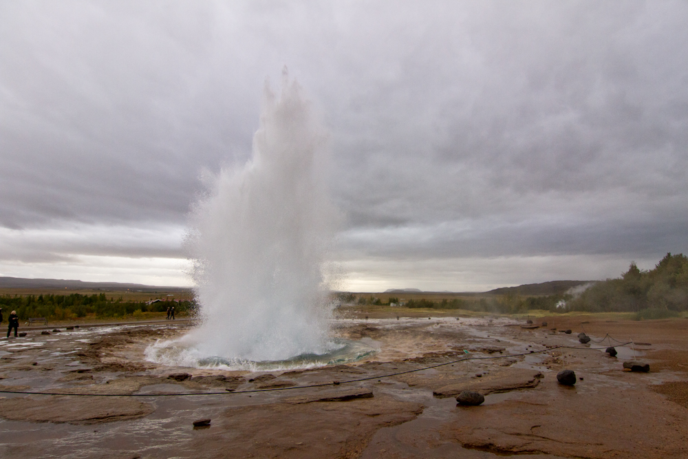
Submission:
[[498,374],[482,376],[480,381],[464,381],[461,383],[444,385],[433,390],[438,398],[454,397],[464,390],[480,392],[483,395],[499,392],[509,392],[517,389],[532,389],[540,383],[542,374],[535,370],[523,368],[509,368]]

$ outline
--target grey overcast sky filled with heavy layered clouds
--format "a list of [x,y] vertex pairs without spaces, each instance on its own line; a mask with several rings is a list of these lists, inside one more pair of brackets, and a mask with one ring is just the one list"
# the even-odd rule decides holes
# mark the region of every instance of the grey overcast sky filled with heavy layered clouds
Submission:
[[189,285],[202,177],[287,65],[346,288],[616,277],[688,253],[685,1],[0,0],[0,275]]

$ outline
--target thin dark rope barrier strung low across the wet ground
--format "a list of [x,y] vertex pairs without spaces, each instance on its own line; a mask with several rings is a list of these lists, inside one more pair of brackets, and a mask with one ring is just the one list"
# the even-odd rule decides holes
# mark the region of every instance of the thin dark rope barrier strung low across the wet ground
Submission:
[[[616,340],[614,340],[616,341]],[[621,341],[619,341],[621,342]],[[621,345],[633,344],[632,341],[623,343]],[[251,390],[241,390],[241,391],[223,391],[223,392],[187,392],[184,394],[65,394],[62,392],[29,392],[20,390],[0,390],[0,394],[25,394],[25,395],[62,395],[62,396],[79,396],[79,397],[186,397],[186,396],[199,396],[199,395],[235,395],[235,394],[255,394],[257,392],[277,392],[281,390],[294,390],[294,389],[309,389],[312,387],[326,387],[331,385],[342,385],[351,383],[361,383],[363,381],[371,381],[373,379],[390,378],[391,376],[399,376],[401,374],[409,374],[415,372],[422,372],[424,370],[432,370],[433,368],[444,367],[446,365],[453,365],[454,363],[461,363],[471,360],[491,360],[491,359],[508,359],[510,357],[526,356],[531,354],[541,354],[543,352],[550,352],[556,349],[575,349],[575,350],[604,350],[605,348],[577,348],[575,346],[552,346],[551,348],[539,350],[539,351],[528,351],[522,354],[508,354],[499,356],[484,356],[484,357],[464,357],[463,359],[458,359],[455,361],[438,363],[437,365],[430,365],[428,367],[416,368],[415,370],[406,370],[404,372],[396,372],[383,374],[380,376],[368,376],[366,378],[350,379],[348,381],[333,381],[329,383],[319,383],[310,385],[300,385],[300,386],[290,386],[290,387],[271,387],[268,389],[251,389]]]

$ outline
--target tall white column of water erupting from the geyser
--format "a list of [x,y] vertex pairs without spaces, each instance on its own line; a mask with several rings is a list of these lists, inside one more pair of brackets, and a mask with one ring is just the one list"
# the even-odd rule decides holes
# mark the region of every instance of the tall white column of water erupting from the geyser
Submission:
[[201,325],[197,357],[275,361],[332,350],[321,268],[337,213],[325,131],[295,82],[266,83],[252,158],[222,169],[192,212],[187,247]]

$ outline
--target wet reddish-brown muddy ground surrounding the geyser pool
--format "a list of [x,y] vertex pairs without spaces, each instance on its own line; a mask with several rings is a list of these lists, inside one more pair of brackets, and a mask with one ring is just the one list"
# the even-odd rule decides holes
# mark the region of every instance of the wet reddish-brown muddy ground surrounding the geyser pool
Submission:
[[[338,336],[373,340],[379,352],[269,373],[145,361],[148,345],[188,330],[179,323],[20,330],[27,336],[0,341],[0,456],[688,457],[687,319],[542,321],[340,319]],[[616,358],[595,350],[613,339],[634,344]],[[469,357],[480,359],[458,361]],[[651,371],[624,372],[634,358]],[[565,368],[579,378],[573,387],[557,383]],[[485,403],[457,406],[465,389]],[[184,395],[199,392],[215,394]],[[193,427],[204,418],[209,427]]]

